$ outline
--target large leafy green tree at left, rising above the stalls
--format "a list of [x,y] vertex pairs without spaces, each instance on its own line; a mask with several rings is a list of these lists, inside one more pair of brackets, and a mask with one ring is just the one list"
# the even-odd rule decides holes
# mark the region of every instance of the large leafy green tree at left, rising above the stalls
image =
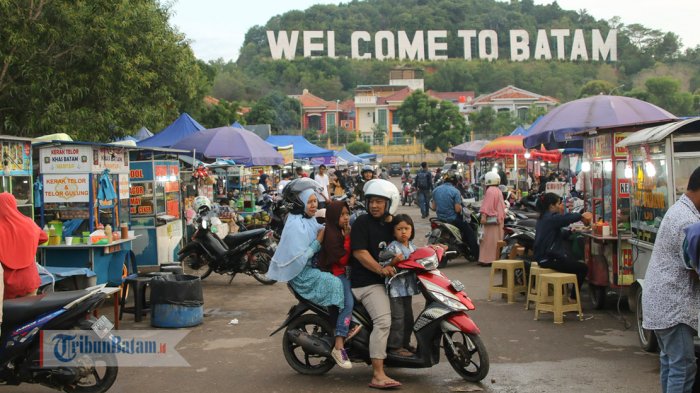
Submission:
[[111,141],[196,113],[209,89],[155,1],[0,2],[0,134]]

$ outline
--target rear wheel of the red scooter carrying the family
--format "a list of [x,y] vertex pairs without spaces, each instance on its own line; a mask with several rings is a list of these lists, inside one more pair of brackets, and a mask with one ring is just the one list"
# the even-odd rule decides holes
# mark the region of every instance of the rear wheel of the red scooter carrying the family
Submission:
[[287,364],[299,374],[321,375],[330,371],[335,366],[335,361],[325,356],[306,353],[300,345],[289,339],[287,332],[294,329],[301,329],[310,335],[324,337],[331,335],[333,331],[328,321],[316,314],[304,314],[293,320],[284,331],[282,351]]

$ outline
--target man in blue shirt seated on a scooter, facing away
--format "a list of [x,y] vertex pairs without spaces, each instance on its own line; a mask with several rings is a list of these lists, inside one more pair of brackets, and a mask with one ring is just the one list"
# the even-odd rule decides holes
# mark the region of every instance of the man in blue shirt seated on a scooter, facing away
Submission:
[[462,220],[462,195],[457,190],[457,176],[450,173],[445,181],[433,191],[433,208],[438,220],[459,228],[462,242],[469,248],[472,259],[479,258],[479,243],[474,230],[468,222]]

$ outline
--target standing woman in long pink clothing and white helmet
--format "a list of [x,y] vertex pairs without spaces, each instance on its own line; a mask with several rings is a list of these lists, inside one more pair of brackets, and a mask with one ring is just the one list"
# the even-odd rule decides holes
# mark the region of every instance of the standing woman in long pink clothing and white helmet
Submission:
[[489,172],[484,177],[486,193],[481,203],[481,227],[483,236],[479,247],[479,265],[490,266],[498,254],[498,242],[503,240],[503,222],[505,220],[505,202],[498,187],[500,177]]

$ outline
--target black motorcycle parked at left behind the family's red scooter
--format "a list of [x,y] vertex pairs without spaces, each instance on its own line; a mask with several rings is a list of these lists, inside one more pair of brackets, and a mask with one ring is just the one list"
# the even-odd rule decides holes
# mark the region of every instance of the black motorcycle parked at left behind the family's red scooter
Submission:
[[185,265],[185,272],[202,280],[212,272],[228,274],[231,281],[238,273],[253,276],[265,285],[274,284],[267,278],[270,261],[277,248],[274,232],[269,229],[253,229],[227,235],[223,240],[211,231],[207,212],[197,218],[197,231],[192,241],[178,252]]

